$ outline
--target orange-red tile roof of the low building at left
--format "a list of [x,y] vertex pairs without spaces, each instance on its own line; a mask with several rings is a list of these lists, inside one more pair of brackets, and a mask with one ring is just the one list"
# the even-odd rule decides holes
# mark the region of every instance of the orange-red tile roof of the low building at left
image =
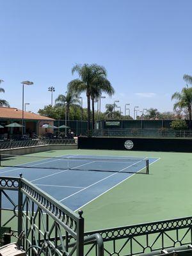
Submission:
[[[5,108],[0,107],[0,118],[8,118],[8,119],[22,119],[22,110],[17,108]],[[47,116],[37,115],[31,112],[24,111],[24,119],[28,120],[54,120]]]

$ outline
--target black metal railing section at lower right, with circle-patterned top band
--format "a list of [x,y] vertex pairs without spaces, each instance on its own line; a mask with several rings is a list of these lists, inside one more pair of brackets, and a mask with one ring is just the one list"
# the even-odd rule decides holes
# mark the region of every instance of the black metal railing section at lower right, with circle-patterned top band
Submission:
[[84,235],[92,236],[95,233],[100,234],[104,241],[104,255],[159,252],[192,243],[192,217],[109,228]]

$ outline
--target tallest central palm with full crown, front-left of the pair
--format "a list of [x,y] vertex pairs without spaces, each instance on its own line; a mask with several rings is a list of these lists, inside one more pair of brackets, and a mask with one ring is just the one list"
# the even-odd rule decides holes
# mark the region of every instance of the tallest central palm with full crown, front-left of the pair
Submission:
[[[90,100],[91,96],[95,98],[95,95],[101,91],[94,91],[95,85],[99,84],[102,79],[106,78],[106,69],[102,66],[97,64],[76,64],[72,68],[72,74],[77,72],[80,79],[74,79],[70,83],[68,83],[68,90],[69,92],[76,92],[76,93],[86,93],[87,97],[87,112],[88,112],[88,131],[90,131]],[[93,93],[94,92],[94,93]],[[94,95],[94,96],[93,96]],[[94,108],[93,108],[94,109]]]

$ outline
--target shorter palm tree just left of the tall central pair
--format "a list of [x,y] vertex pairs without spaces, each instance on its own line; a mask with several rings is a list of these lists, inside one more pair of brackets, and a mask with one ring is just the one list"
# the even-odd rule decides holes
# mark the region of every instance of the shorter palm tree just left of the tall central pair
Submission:
[[69,120],[70,106],[79,106],[77,104],[79,104],[80,100],[77,99],[77,97],[78,97],[77,94],[67,91],[66,95],[60,94],[55,100],[56,102],[55,106],[61,107],[61,108],[64,108],[64,107],[67,108],[66,111],[67,111],[68,120]]

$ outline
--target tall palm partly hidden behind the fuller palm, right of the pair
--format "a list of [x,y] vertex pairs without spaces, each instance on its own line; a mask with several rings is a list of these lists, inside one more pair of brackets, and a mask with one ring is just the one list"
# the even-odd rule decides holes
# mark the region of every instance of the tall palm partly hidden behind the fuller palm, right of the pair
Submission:
[[92,88],[91,88],[93,129],[95,127],[95,108],[94,108],[95,99],[98,99],[101,96],[102,92],[108,94],[110,97],[115,93],[115,90],[111,86],[111,83],[106,78],[107,72],[105,68],[103,68],[103,70],[104,70],[103,74],[99,73],[95,76],[95,79],[93,79]]

